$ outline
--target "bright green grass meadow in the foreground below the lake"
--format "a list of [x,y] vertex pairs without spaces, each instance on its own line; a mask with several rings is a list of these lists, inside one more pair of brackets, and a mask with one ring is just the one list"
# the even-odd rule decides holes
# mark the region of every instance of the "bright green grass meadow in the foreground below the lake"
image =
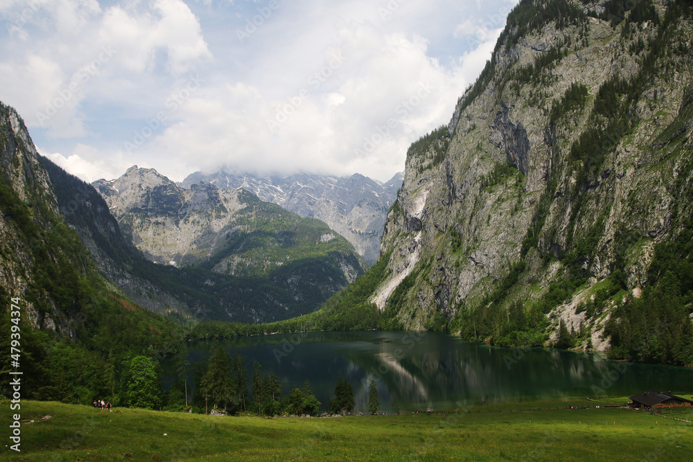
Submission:
[[[411,414],[341,418],[213,417],[141,409],[99,411],[58,402],[21,402],[21,452],[6,461],[691,461],[693,425],[623,409],[511,409],[582,406],[551,400]],[[489,412],[493,411],[493,412]],[[498,412],[505,411],[505,412]],[[42,420],[44,416],[51,416]],[[676,414],[689,420],[693,414]],[[33,423],[24,420],[34,420]],[[166,434],[166,436],[164,436]]]

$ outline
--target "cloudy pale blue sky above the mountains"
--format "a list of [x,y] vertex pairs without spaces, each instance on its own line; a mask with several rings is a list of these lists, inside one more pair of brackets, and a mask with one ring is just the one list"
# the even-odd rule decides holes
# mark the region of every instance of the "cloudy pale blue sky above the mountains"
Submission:
[[0,0],[0,100],[85,179],[221,168],[387,181],[517,0]]

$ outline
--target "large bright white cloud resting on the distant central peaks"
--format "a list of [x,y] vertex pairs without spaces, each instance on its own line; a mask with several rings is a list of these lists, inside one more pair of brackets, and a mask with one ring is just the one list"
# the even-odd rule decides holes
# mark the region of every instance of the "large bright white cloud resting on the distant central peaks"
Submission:
[[341,30],[340,48],[328,49],[316,69],[318,78],[306,72],[304,85],[281,99],[240,82],[195,95],[157,136],[152,155],[178,152],[174,177],[226,163],[389,179],[412,141],[448,122],[466,84],[426,55],[421,37],[372,26]]

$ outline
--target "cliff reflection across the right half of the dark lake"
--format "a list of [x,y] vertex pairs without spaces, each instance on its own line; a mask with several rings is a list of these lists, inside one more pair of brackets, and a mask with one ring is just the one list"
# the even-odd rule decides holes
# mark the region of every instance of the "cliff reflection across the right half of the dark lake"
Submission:
[[641,388],[687,388],[686,380],[693,378],[693,371],[682,368],[616,363],[600,355],[490,348],[446,335],[409,335],[419,341],[380,341],[377,354],[355,350],[348,356],[367,374],[367,382],[374,377],[385,384],[393,409],[629,396]]

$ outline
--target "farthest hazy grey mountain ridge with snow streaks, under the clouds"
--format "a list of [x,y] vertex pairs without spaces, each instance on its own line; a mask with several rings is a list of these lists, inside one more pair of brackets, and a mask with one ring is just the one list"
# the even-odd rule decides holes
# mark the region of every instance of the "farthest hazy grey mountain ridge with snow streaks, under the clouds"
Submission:
[[387,183],[380,184],[358,173],[351,177],[307,173],[258,177],[220,170],[211,175],[195,172],[181,185],[189,189],[204,182],[218,188],[243,188],[301,217],[322,220],[351,242],[366,263],[372,265],[378,259],[385,216],[402,186],[402,179],[402,174],[397,173]]

